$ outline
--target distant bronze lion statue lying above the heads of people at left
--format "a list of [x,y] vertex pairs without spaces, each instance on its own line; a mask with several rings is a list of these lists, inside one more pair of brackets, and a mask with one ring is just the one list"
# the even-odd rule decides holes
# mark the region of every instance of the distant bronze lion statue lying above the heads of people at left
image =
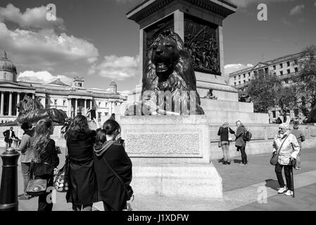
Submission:
[[18,118],[16,122],[37,122],[43,118],[49,117],[53,122],[64,124],[68,118],[63,110],[56,108],[44,109],[44,106],[37,99],[30,96],[24,96],[23,100],[16,105],[18,107]]

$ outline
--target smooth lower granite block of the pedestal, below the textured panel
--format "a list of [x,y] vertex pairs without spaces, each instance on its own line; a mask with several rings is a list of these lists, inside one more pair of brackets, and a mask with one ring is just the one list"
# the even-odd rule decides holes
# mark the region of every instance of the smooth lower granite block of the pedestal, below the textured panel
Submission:
[[139,196],[222,198],[222,178],[210,164],[137,164],[131,186]]

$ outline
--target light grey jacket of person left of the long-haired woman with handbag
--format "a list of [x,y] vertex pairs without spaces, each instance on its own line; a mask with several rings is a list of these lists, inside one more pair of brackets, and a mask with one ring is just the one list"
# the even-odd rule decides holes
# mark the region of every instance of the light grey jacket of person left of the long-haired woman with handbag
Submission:
[[35,129],[30,129],[26,131],[21,139],[20,146],[18,149],[21,151],[21,162],[27,163],[31,162],[34,158],[34,150],[32,149],[32,143],[34,139]]

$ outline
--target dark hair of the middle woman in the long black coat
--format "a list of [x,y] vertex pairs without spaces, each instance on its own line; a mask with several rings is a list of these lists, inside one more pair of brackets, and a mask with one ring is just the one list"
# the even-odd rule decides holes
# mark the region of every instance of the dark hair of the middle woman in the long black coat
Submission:
[[82,140],[87,138],[90,132],[87,117],[84,115],[77,115],[72,120],[69,128],[65,133],[66,139]]

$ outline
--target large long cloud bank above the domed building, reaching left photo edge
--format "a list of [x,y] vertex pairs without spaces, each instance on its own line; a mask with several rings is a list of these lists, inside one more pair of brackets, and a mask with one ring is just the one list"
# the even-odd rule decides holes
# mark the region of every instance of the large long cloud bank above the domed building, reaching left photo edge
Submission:
[[53,29],[39,30],[8,30],[0,23],[0,49],[15,54],[17,65],[31,65],[46,68],[58,63],[84,60],[92,63],[99,56],[94,44],[84,39],[65,33],[56,34]]

